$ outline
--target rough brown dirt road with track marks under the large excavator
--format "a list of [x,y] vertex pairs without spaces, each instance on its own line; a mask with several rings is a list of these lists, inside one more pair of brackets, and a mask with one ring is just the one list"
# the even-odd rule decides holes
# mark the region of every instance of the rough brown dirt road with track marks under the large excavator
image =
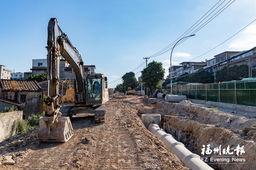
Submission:
[[143,99],[110,99],[104,124],[94,123],[91,114],[76,115],[71,119],[74,136],[67,143],[39,142],[37,127],[4,141],[0,162],[11,155],[15,164],[0,165],[0,169],[188,170],[142,124],[137,114],[138,109],[148,105]]

